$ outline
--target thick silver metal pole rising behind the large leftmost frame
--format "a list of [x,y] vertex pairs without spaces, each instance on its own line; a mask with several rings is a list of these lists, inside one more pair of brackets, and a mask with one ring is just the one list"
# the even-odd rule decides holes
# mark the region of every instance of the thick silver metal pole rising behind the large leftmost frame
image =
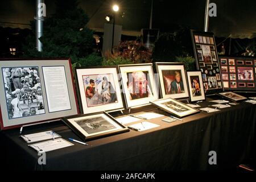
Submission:
[[35,12],[35,25],[36,25],[36,49],[39,52],[43,51],[43,44],[40,42],[39,38],[43,36],[43,20],[46,16],[46,6],[43,0],[36,0],[36,12]]

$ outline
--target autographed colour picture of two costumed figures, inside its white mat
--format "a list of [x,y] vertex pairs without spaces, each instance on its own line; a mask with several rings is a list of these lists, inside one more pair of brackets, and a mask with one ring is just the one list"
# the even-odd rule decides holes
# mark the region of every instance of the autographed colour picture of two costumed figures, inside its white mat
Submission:
[[118,102],[112,74],[83,75],[82,80],[88,107]]

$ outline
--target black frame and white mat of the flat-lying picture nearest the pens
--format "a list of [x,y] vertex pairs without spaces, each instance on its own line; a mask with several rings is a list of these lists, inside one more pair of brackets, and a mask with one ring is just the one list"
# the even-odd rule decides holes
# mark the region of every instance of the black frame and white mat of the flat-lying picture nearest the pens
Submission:
[[[76,124],[77,122],[81,121],[82,119],[93,119],[93,118],[98,118],[98,117],[102,117],[104,119],[106,119],[106,121],[108,121],[111,125],[113,125],[114,127],[117,127],[117,129],[108,129],[108,130],[104,130],[101,132],[97,132],[97,130],[101,130],[100,127],[106,127],[103,126],[102,124],[98,124],[101,125],[100,127],[95,126],[95,128],[97,129],[94,133],[88,133],[90,130],[94,130],[93,128],[89,128],[87,126],[85,126],[84,128],[82,128],[80,125]],[[79,119],[79,120],[76,120]],[[82,115],[73,115],[71,117],[63,117],[61,118],[61,121],[63,121],[77,136],[79,136],[83,141],[88,141],[88,140],[93,140],[93,139],[98,139],[98,138],[103,138],[103,137],[109,137],[111,135],[116,135],[116,134],[121,134],[121,133],[126,133],[129,132],[130,130],[123,126],[121,123],[119,123],[114,117],[112,117],[110,114],[106,113],[105,111],[102,112],[98,112],[98,113],[90,113],[90,114],[82,114]],[[105,120],[102,121],[102,119],[98,119],[98,121],[96,120],[95,122],[89,121],[89,124],[92,126],[92,123],[97,123],[97,122],[106,122]],[[83,122],[83,121],[81,121]],[[86,123],[87,125],[87,123]],[[111,126],[109,125],[109,126]]]

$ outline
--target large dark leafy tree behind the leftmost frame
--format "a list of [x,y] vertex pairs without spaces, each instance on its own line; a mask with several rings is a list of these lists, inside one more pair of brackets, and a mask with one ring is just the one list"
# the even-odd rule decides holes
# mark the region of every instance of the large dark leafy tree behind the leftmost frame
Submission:
[[[23,51],[25,57],[70,57],[72,63],[93,63],[86,57],[93,52],[93,31],[86,27],[88,16],[77,7],[77,0],[56,1],[56,14],[44,20],[43,51],[35,48],[35,36],[27,38]],[[34,30],[35,22],[31,23]],[[87,63],[88,62],[88,63]]]

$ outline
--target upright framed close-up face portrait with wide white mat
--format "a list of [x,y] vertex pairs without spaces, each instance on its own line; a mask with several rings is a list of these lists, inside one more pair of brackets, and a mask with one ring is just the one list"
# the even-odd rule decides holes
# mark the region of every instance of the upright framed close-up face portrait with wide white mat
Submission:
[[150,104],[158,99],[152,63],[118,65],[126,108]]

